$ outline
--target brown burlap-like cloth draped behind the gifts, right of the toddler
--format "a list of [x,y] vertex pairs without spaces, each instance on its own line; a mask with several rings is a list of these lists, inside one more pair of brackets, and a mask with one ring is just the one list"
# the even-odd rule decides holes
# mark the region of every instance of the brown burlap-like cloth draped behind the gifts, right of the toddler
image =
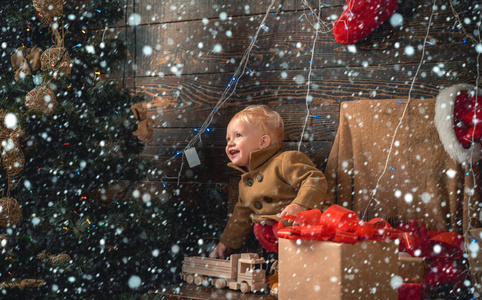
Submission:
[[480,227],[479,167],[445,151],[434,125],[435,99],[412,100],[402,119],[404,109],[397,100],[342,103],[325,171],[329,199],[364,220],[382,217],[394,226],[417,220],[429,230]]

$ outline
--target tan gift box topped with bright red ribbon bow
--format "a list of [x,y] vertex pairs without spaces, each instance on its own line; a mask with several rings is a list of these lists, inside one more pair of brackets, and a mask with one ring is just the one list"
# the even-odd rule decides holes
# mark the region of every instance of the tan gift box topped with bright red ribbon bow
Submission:
[[[284,219],[294,226],[284,227]],[[339,205],[280,222],[280,299],[397,299],[398,237],[381,218],[370,222]]]

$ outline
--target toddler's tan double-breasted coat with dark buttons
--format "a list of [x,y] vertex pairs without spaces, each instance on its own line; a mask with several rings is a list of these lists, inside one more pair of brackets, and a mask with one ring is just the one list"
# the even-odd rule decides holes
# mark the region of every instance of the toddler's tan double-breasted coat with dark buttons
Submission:
[[278,221],[279,213],[291,203],[310,209],[329,205],[323,172],[301,152],[282,152],[278,146],[269,146],[250,154],[251,171],[232,163],[228,166],[242,173],[238,202],[220,239],[230,248],[242,247],[253,222]]

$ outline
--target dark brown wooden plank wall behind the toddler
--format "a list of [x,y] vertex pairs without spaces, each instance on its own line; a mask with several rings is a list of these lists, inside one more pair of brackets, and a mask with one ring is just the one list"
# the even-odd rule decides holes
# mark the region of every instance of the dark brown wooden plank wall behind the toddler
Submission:
[[[285,149],[297,149],[301,139],[301,150],[324,169],[342,101],[401,99],[403,105],[409,96],[428,99],[453,84],[474,84],[478,53],[464,29],[474,34],[480,7],[474,1],[401,2],[401,24],[386,22],[346,46],[331,31],[345,0],[276,0],[269,11],[271,0],[129,1],[130,25],[111,34],[127,33],[125,82],[146,96],[154,120],[154,139],[143,155],[162,172],[150,180],[179,189],[179,179],[180,190],[191,193],[181,192],[180,198],[193,197],[196,189],[189,186],[212,185],[232,204],[237,179],[225,166],[225,127],[249,104],[277,110],[286,122]],[[195,144],[202,164],[190,169],[176,153],[222,99],[266,14],[239,84]],[[316,15],[323,23],[318,35]]]

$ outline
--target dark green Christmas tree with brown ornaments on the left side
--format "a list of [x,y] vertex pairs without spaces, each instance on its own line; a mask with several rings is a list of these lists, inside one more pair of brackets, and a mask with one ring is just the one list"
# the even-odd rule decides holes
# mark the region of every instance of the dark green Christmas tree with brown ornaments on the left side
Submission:
[[101,33],[125,7],[9,0],[0,16],[0,295],[128,298],[174,281],[192,235],[171,230],[182,204],[133,200],[153,172],[132,134],[142,98],[100,79],[122,74],[125,41]]

